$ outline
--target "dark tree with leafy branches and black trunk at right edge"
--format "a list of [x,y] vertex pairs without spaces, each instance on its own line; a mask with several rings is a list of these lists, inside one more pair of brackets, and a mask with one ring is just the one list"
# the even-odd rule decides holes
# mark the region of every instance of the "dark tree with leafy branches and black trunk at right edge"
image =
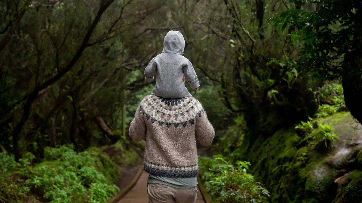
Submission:
[[[298,68],[320,80],[342,78],[346,107],[362,123],[362,2],[358,0],[292,0],[300,9],[287,9],[274,18],[281,30],[300,40]],[[311,8],[311,3],[313,7]]]

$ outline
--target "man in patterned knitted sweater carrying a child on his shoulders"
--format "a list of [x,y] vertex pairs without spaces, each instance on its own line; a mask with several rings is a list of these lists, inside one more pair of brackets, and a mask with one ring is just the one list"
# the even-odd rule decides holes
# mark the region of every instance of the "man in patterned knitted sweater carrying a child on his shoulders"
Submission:
[[149,203],[194,203],[197,195],[196,142],[209,146],[212,128],[194,97],[164,99],[148,95],[139,105],[129,130],[134,141],[146,138],[144,170]]

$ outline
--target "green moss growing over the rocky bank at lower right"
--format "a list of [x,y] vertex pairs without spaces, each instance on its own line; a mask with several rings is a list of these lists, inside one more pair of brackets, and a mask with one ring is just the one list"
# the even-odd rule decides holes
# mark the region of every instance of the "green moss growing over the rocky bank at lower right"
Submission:
[[[340,142],[346,143],[358,134],[351,126],[354,120],[349,112],[339,112],[315,121],[331,125]],[[327,163],[328,153],[312,150],[294,128],[277,131],[267,139],[259,136],[246,159],[251,162],[250,173],[268,187],[270,202],[332,202],[337,194],[334,169]],[[359,152],[358,160],[361,167],[362,152]],[[358,183],[358,178],[354,180]],[[358,188],[351,186],[355,187]]]

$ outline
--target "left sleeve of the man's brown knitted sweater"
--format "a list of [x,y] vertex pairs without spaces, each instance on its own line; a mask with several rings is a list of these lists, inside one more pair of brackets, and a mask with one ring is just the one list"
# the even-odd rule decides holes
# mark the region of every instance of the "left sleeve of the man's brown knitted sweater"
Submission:
[[143,114],[140,110],[141,108],[141,105],[139,105],[129,130],[130,137],[136,142],[142,141],[146,138],[146,123],[144,122]]

